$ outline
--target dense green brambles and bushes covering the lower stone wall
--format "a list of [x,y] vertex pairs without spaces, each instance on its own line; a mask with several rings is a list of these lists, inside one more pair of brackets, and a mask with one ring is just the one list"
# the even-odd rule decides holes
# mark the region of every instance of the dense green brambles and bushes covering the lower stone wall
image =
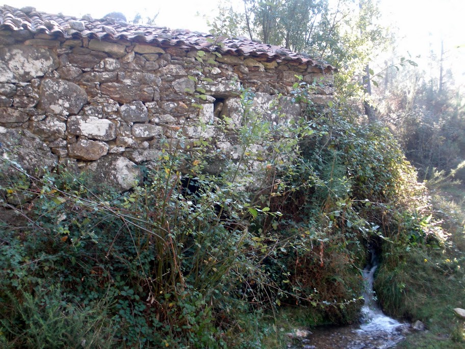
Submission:
[[[357,321],[368,241],[400,268],[439,230],[415,210],[424,188],[386,129],[294,88],[306,113],[279,124],[241,91],[239,160],[179,130],[127,192],[66,166],[39,177],[4,157],[2,344],[251,348],[282,343],[277,309],[297,306],[309,325]],[[217,127],[227,133],[229,121]],[[220,173],[205,170],[212,161]]]

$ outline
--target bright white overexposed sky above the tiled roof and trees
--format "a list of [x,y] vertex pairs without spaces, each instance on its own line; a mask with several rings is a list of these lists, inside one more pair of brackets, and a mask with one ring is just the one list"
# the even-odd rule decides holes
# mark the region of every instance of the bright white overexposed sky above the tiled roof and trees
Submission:
[[[2,1],[2,0],[0,0]],[[110,12],[122,12],[128,19],[134,18],[137,12],[153,16],[159,12],[156,23],[171,29],[190,29],[201,32],[208,31],[205,20],[197,16],[197,12],[216,16],[218,0],[132,0],[124,2],[104,2],[99,0],[4,0],[6,5],[21,8],[34,6],[39,11],[59,13],[80,17],[89,13],[94,18],[101,18]],[[240,4],[241,0],[232,0]],[[400,55],[412,58],[428,55],[432,47],[437,55],[441,49],[441,38],[445,40],[448,63],[454,68],[457,80],[465,81],[465,0],[441,0],[430,2],[425,0],[381,0],[383,18],[386,23],[399,29],[403,37],[399,45]],[[431,46],[430,46],[431,45]],[[462,48],[457,46],[463,45]],[[420,59],[421,60],[421,59]]]

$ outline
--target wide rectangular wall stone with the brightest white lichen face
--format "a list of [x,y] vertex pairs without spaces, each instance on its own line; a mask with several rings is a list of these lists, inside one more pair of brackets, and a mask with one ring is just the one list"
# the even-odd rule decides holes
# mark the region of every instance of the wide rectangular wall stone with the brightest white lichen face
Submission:
[[68,133],[108,141],[116,138],[116,126],[110,120],[95,116],[71,116],[68,118]]

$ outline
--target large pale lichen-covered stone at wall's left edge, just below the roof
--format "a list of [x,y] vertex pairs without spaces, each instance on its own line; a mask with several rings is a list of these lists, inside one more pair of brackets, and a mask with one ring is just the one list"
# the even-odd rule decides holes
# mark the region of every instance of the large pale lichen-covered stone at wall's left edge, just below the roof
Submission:
[[29,45],[0,47],[0,82],[27,82],[58,68],[53,50]]

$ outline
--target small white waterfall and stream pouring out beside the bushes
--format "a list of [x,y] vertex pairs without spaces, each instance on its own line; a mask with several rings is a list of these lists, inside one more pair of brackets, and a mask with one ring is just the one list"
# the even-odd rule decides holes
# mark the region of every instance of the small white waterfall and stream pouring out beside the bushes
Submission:
[[[360,325],[316,328],[294,348],[301,349],[385,349],[395,347],[404,339],[409,325],[383,314],[373,296],[373,279],[378,261],[374,250],[363,272],[366,280],[365,305]],[[291,346],[293,347],[293,346]]]

